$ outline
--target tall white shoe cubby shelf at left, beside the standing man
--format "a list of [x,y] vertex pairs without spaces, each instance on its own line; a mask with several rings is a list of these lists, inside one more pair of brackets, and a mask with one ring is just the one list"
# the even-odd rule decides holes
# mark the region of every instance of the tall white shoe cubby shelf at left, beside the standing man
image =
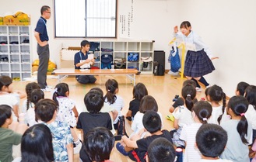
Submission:
[[13,81],[31,77],[30,26],[0,26],[0,75]]

